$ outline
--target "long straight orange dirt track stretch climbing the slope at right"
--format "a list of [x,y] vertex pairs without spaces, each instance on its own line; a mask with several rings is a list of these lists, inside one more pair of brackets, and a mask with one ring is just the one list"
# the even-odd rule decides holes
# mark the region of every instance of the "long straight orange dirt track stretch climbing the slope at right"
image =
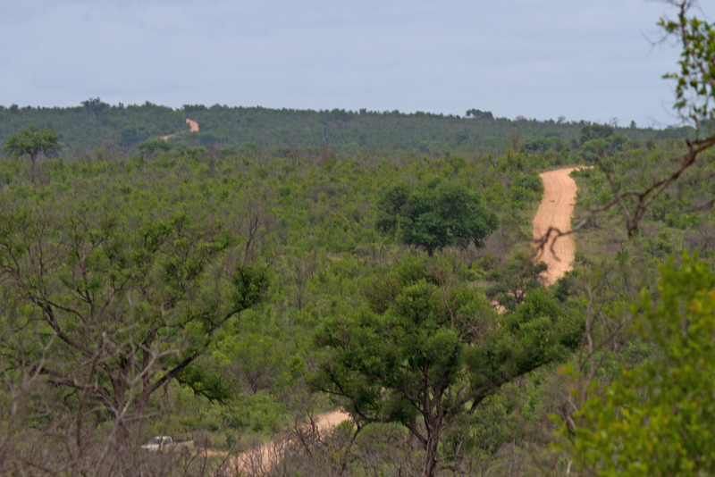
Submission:
[[[575,169],[578,168],[559,169],[543,172],[540,175],[543,180],[543,198],[539,211],[534,217],[534,238],[543,237],[549,227],[556,227],[561,231],[571,229],[571,213],[574,211],[576,201],[576,182],[568,174]],[[551,252],[551,245],[553,245],[553,252]],[[553,238],[549,240],[543,252],[536,256],[536,260],[549,265],[545,273],[547,286],[556,283],[571,270],[575,253],[573,235],[559,237],[555,242]]]

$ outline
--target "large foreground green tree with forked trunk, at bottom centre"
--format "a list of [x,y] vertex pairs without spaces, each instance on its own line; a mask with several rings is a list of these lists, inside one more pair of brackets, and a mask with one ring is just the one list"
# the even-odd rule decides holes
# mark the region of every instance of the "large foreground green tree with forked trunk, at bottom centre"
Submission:
[[495,389],[558,360],[582,336],[580,322],[536,290],[498,321],[484,296],[424,258],[374,280],[365,296],[366,308],[315,335],[325,355],[312,385],[339,397],[358,430],[407,427],[425,449],[425,477],[438,472],[442,432],[458,416],[478,412]]

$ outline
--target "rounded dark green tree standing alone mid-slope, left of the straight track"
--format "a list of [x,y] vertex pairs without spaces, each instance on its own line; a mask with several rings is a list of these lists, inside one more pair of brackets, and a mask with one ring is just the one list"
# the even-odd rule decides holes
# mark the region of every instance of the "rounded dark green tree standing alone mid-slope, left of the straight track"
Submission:
[[433,180],[414,191],[400,182],[378,206],[378,230],[397,233],[402,243],[425,247],[430,256],[444,247],[484,247],[484,238],[499,226],[478,195],[447,180]]

